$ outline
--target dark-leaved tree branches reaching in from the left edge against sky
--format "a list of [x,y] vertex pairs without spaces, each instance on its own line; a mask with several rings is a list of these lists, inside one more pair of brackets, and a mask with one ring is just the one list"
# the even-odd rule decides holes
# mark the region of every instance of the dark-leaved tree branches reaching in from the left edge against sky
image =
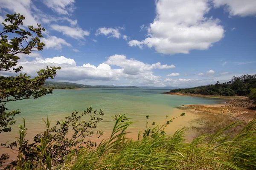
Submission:
[[[26,30],[21,29],[23,17],[20,14],[7,14],[3,24],[3,31],[0,31],[0,74],[6,75],[8,72],[18,73],[22,71],[22,66],[17,62],[20,55],[29,55],[32,51],[42,51],[45,46],[40,38],[45,31],[41,25],[37,28],[28,26]],[[46,94],[51,94],[52,89],[42,88],[44,81],[53,79],[56,71],[60,67],[48,67],[38,71],[38,76],[31,78],[27,74],[18,76],[0,76],[0,133],[11,131],[10,125],[15,123],[14,116],[20,111],[7,111],[6,102],[36,99]],[[4,74],[3,74],[4,73]]]

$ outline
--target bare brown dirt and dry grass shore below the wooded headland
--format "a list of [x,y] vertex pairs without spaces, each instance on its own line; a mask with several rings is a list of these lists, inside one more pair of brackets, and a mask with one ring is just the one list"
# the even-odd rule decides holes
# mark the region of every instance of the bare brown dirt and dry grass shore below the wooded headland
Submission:
[[179,109],[195,114],[196,118],[190,120],[190,130],[195,131],[198,136],[204,133],[214,133],[221,127],[232,122],[242,122],[241,125],[231,128],[228,132],[236,134],[247,122],[256,115],[253,110],[256,105],[249,99],[232,99],[225,104],[216,105],[182,105]]

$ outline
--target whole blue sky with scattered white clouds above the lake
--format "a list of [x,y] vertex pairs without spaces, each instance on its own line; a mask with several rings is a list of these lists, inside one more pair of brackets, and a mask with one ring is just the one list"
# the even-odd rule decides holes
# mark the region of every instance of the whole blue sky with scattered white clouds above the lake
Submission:
[[185,88],[256,74],[256,0],[0,0],[0,23],[15,12],[46,29],[43,52],[19,56],[32,77],[49,65],[55,81]]

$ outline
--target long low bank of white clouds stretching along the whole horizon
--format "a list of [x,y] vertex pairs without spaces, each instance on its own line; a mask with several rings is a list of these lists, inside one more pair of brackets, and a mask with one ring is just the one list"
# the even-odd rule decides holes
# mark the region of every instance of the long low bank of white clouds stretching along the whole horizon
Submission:
[[[116,85],[149,85],[149,86],[172,86],[172,87],[195,87],[199,85],[214,84],[217,80],[220,82],[229,81],[232,76],[225,74],[219,77],[211,77],[207,79],[162,79],[161,76],[154,75],[153,69],[169,68],[168,65],[150,65],[135,59],[127,59],[123,55],[113,55],[99,65],[91,65],[90,63],[82,66],[76,65],[74,59],[61,57],[53,58],[35,58],[32,61],[18,62],[19,66],[23,66],[23,73],[29,76],[36,76],[36,71],[46,68],[46,66],[61,67],[58,75],[55,77],[57,81],[68,81],[84,83],[84,84],[105,84],[115,83]],[[115,65],[119,68],[113,69]],[[1,73],[0,73],[1,74]],[[8,75],[13,75],[9,73]],[[210,76],[208,76],[210,77]]]

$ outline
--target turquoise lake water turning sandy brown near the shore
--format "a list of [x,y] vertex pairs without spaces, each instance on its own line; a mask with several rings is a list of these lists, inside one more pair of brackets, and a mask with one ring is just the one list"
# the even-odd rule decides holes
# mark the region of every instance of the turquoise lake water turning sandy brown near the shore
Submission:
[[[16,116],[17,122],[13,126],[12,133],[1,133],[0,139],[8,139],[17,136],[17,127],[22,124],[22,118],[26,119],[29,134],[44,130],[43,119],[47,116],[52,125],[57,120],[64,120],[72,111],[83,112],[88,107],[93,110],[103,109],[105,120],[111,120],[115,114],[128,113],[128,117],[137,121],[131,128],[145,129],[145,116],[149,115],[151,121],[163,122],[165,116],[172,116],[174,108],[186,104],[215,104],[223,99],[200,98],[190,96],[174,96],[160,94],[168,90],[151,89],[99,89],[88,88],[82,90],[54,90],[53,94],[34,100],[22,100],[8,102],[9,110],[20,109],[20,115]],[[110,132],[113,123],[102,123],[99,128]],[[1,140],[2,141],[2,140]]]

